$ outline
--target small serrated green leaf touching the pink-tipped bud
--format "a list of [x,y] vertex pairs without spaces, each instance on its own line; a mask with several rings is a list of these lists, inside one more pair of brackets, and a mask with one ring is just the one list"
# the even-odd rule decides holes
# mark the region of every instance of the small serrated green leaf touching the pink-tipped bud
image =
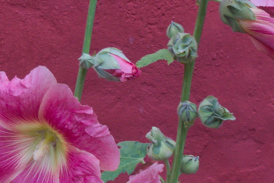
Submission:
[[168,49],[160,49],[159,51],[157,51],[153,54],[149,54],[149,55],[142,57],[141,60],[139,60],[136,63],[136,66],[138,68],[141,68],[141,67],[147,66],[153,62],[156,62],[157,60],[167,60],[168,65],[174,61],[174,59],[173,59],[172,55],[170,54],[170,52],[168,51]]

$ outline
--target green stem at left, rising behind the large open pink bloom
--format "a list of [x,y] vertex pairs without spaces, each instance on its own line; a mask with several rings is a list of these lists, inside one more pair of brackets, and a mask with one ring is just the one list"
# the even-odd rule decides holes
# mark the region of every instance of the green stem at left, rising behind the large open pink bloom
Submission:
[[[88,54],[90,52],[90,42],[91,42],[96,4],[97,4],[97,0],[90,0],[89,11],[88,11],[88,16],[86,20],[86,31],[85,31],[82,54],[83,53]],[[74,91],[74,96],[77,97],[79,101],[81,101],[86,73],[87,73],[87,69],[84,69],[83,67],[80,66],[77,81],[76,81],[75,91]]]

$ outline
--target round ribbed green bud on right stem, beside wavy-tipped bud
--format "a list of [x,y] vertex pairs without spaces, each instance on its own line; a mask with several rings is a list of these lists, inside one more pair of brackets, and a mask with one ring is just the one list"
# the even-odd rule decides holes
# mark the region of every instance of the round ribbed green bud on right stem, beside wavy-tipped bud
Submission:
[[189,101],[180,102],[177,112],[178,116],[184,121],[184,125],[191,127],[198,117],[197,106]]

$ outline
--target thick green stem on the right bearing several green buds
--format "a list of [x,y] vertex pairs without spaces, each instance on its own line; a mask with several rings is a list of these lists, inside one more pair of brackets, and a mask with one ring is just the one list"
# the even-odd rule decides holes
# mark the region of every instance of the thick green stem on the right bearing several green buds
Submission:
[[[193,37],[197,41],[197,45],[199,45],[201,34],[202,34],[202,28],[203,28],[204,20],[206,16],[207,3],[208,3],[208,0],[201,0],[199,3],[199,10],[198,10],[195,29],[193,33]],[[189,100],[194,64],[195,64],[195,60],[192,63],[185,64],[184,66],[185,70],[184,70],[184,80],[183,80],[182,93],[181,93],[181,102],[185,100]],[[183,121],[179,119],[174,159],[172,163],[170,179],[167,180],[168,183],[177,183],[178,181],[187,132],[188,132],[188,127],[185,127]]]

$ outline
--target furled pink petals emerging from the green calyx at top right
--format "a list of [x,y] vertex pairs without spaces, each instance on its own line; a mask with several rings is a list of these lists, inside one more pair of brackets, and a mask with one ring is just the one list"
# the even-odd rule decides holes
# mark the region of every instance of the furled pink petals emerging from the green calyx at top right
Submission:
[[251,36],[255,47],[274,60],[274,18],[261,9],[250,9],[256,20],[237,19],[237,22]]

